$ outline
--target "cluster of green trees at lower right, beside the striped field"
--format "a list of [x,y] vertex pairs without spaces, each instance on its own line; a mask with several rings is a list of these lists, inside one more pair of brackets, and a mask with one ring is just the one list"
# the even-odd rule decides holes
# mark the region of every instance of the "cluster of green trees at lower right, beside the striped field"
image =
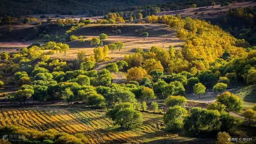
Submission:
[[240,120],[229,112],[241,112],[242,103],[238,96],[230,92],[219,95],[216,102],[208,104],[207,109],[194,107],[189,110],[189,114],[183,107],[186,103],[183,96],[169,96],[164,103],[168,107],[164,122],[172,130],[184,128],[198,135],[204,130],[231,132],[240,124]]

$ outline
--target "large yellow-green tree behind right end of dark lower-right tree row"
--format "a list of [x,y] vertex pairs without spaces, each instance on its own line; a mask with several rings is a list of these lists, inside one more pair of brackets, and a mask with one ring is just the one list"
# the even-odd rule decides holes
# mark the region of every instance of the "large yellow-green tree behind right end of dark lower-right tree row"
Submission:
[[222,95],[218,95],[216,102],[224,104],[226,106],[226,112],[241,112],[243,109],[242,100],[230,92],[224,92]]

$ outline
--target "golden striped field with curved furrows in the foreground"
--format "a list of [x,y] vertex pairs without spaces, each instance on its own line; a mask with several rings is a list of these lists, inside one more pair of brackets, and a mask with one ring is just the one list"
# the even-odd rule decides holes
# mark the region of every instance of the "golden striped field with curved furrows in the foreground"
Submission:
[[180,137],[162,130],[163,116],[143,112],[143,124],[136,129],[113,128],[103,110],[81,108],[1,109],[0,126],[16,125],[38,131],[55,129],[70,134],[83,132],[91,144],[99,143],[176,143],[193,138]]

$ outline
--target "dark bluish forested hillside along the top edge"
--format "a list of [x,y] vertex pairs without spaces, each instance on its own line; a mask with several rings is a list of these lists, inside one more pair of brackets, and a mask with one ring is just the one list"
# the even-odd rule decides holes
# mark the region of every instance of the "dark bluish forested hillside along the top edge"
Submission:
[[[229,2],[232,2],[230,0]],[[241,2],[242,0],[238,0]],[[105,15],[109,12],[133,11],[133,10],[150,10],[150,8],[158,7],[160,11],[181,10],[190,8],[193,4],[197,6],[210,6],[222,4],[225,0],[204,0],[204,1],[186,1],[174,0],[123,0],[123,1],[104,1],[104,0],[89,0],[89,1],[51,1],[51,0],[2,0],[0,6],[0,16],[20,16],[32,14],[55,14],[61,15],[78,15],[90,14],[92,16]],[[194,6],[193,6],[194,7]]]

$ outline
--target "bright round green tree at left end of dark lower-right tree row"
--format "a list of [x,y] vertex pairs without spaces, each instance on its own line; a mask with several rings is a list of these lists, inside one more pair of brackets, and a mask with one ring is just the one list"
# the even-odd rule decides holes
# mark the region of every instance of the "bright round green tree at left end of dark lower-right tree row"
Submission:
[[164,114],[164,123],[171,129],[181,129],[183,127],[182,117],[187,114],[187,110],[181,106],[173,106],[168,108]]

